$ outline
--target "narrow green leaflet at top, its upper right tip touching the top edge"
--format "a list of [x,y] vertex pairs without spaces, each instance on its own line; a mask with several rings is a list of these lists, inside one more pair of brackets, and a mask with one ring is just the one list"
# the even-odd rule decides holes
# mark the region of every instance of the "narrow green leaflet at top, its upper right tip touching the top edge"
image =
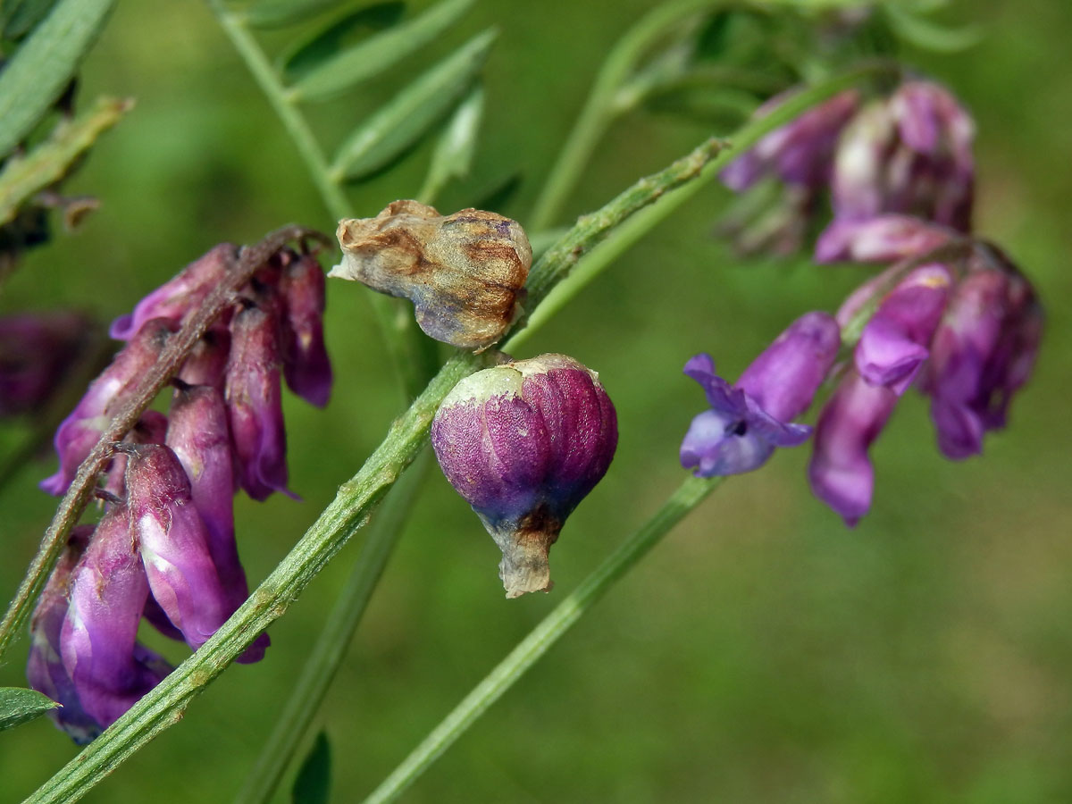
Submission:
[[442,0],[416,19],[343,50],[294,85],[293,98],[334,98],[421,49],[468,11],[473,0]]

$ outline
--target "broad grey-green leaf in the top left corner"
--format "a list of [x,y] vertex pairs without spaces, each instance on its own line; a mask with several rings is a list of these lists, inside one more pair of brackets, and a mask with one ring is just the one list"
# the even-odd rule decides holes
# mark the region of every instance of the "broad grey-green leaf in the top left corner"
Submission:
[[63,92],[115,0],[61,0],[0,73],[0,157],[30,133]]

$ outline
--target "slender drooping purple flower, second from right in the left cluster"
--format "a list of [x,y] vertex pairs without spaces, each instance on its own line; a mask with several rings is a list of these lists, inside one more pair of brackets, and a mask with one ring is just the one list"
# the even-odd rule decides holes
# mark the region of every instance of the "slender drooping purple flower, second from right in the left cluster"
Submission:
[[226,402],[239,483],[254,500],[267,500],[273,491],[294,496],[286,488],[279,323],[252,306],[235,316],[230,329]]

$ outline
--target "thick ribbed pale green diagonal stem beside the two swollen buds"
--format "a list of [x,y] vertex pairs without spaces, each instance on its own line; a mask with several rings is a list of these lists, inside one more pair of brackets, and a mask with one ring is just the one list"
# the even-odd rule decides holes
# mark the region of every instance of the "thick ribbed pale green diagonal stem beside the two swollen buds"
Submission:
[[[599,211],[579,220],[563,238],[571,243],[570,248],[551,249],[533,267],[533,276],[541,278],[544,288],[534,298],[542,298],[569,273],[581,255],[629,214],[640,211],[670,188],[694,178],[704,163],[698,154],[704,152],[712,152],[712,147],[703,146],[666,170],[641,179]],[[494,352],[458,353],[451,357],[420,397],[394,420],[357,475],[339,488],[336,500],[220,630],[27,802],[77,801],[134,751],[178,723],[194,696],[223,672],[260,631],[283,615],[331,556],[368,521],[379,500],[428,442],[432,417],[453,386],[494,360]]]

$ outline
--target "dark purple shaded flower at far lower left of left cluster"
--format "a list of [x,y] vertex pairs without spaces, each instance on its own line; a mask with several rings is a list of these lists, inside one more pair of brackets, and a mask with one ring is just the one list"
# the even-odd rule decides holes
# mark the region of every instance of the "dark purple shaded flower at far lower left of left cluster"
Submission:
[[61,706],[51,710],[48,716],[78,745],[85,745],[100,734],[102,727],[83,709],[78,690],[63,667],[60,632],[71,606],[71,572],[85,552],[92,532],[92,525],[78,525],[71,531],[68,546],[33,610],[30,656],[26,662],[26,678],[30,686]]

